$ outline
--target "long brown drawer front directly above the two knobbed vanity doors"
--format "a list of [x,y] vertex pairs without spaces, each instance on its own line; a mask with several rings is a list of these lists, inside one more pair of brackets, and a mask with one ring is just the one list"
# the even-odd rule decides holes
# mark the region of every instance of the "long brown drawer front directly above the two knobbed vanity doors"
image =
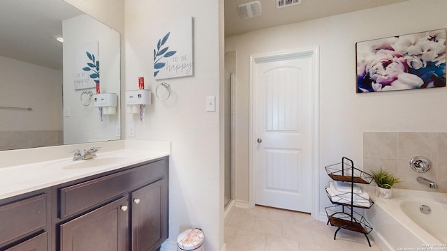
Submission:
[[163,159],[141,167],[61,188],[59,192],[61,202],[59,218],[85,211],[92,206],[98,206],[104,201],[122,195],[123,192],[129,192],[165,176],[166,161]]

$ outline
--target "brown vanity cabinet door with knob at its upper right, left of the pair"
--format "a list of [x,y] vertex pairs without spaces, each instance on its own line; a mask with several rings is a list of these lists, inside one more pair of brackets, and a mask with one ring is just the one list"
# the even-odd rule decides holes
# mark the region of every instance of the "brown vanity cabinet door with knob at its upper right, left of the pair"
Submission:
[[61,251],[126,251],[129,247],[128,199],[117,199],[62,224]]

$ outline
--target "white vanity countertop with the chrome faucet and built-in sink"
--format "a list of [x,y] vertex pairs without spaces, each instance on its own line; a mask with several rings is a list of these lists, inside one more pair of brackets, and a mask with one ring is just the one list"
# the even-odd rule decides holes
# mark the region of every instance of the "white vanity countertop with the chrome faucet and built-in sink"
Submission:
[[[15,158],[9,162],[17,165],[0,165],[0,199],[170,155],[169,142],[122,140],[98,144],[101,149],[96,153],[97,157],[91,160],[73,161],[73,153],[66,153],[66,148],[76,145],[24,149],[20,153],[2,152],[2,162]],[[88,144],[86,148],[96,147],[98,144]],[[61,155],[57,151],[64,153],[64,158],[60,158]],[[37,158],[37,162],[31,162],[29,159],[32,159],[36,152],[45,154],[45,158]],[[52,159],[51,155],[57,157]]]

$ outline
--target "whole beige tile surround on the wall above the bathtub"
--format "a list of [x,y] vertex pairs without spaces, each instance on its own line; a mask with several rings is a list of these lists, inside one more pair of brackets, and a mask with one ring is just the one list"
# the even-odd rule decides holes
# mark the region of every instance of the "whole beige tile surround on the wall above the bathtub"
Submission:
[[[425,174],[414,172],[409,161],[415,156],[429,158],[432,168]],[[400,178],[395,188],[447,192],[447,133],[363,132],[363,169],[371,172],[380,168]],[[438,189],[418,183],[418,176],[438,183]]]

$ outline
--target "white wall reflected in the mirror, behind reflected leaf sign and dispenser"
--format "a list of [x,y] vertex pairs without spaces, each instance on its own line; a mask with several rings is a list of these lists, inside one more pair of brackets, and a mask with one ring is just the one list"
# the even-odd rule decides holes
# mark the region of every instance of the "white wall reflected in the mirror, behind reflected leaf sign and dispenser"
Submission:
[[[118,100],[121,98],[119,33],[85,14],[64,20],[63,33],[64,107],[70,110],[69,116],[64,114],[64,144],[120,139],[116,136],[117,126],[120,125],[119,107],[117,114],[103,115],[101,121],[93,99],[88,106],[80,102],[83,91],[96,93],[96,89],[75,90],[73,84],[76,48],[85,43],[98,41],[99,56],[96,56],[100,62],[101,93],[116,93]],[[85,100],[87,97],[83,96]]]

